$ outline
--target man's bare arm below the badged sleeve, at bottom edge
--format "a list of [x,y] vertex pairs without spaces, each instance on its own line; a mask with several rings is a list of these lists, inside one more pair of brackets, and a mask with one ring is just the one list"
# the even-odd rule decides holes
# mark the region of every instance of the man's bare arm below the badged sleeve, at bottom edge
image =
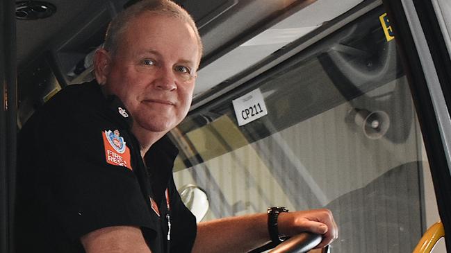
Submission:
[[139,227],[97,229],[81,237],[86,253],[151,253]]

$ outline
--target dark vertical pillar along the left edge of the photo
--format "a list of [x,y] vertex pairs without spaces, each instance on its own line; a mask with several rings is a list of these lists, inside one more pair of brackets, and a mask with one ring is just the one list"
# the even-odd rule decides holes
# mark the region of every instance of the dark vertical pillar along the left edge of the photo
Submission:
[[0,253],[13,252],[17,134],[15,2],[0,3]]

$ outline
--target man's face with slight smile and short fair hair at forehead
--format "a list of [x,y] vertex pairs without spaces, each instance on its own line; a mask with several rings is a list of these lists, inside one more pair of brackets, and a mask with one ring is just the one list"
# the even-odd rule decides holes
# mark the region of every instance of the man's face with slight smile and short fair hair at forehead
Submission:
[[154,13],[130,21],[106,67],[106,89],[134,119],[133,128],[167,132],[188,113],[199,61],[195,32]]

